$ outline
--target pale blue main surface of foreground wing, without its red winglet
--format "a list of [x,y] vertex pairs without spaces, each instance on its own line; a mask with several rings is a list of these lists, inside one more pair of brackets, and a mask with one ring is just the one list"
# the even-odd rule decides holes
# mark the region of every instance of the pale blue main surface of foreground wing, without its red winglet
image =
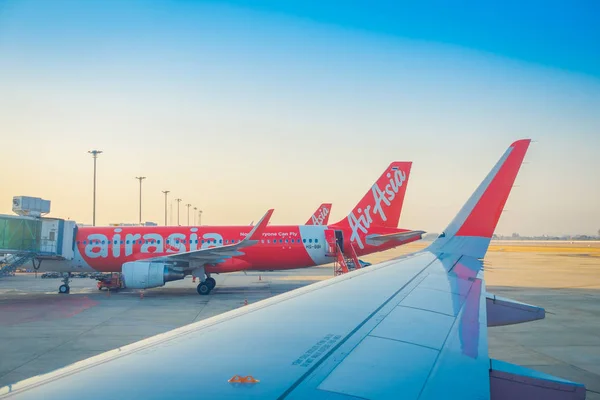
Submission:
[[[17,399],[100,399],[106,393],[90,388],[102,377],[120,398],[188,399],[200,391],[207,399],[415,399],[434,367],[442,371],[428,390],[451,393],[444,385],[451,367],[462,369],[455,377],[466,389],[461,398],[477,398],[468,394],[489,392],[481,318],[485,302],[479,296],[483,286],[473,288],[474,282],[454,274],[446,279],[444,267],[456,262],[422,253],[373,265],[104,353],[11,390],[37,386]],[[260,382],[230,383],[235,375]],[[190,379],[198,384],[190,385]],[[453,383],[457,389],[458,383]]]

